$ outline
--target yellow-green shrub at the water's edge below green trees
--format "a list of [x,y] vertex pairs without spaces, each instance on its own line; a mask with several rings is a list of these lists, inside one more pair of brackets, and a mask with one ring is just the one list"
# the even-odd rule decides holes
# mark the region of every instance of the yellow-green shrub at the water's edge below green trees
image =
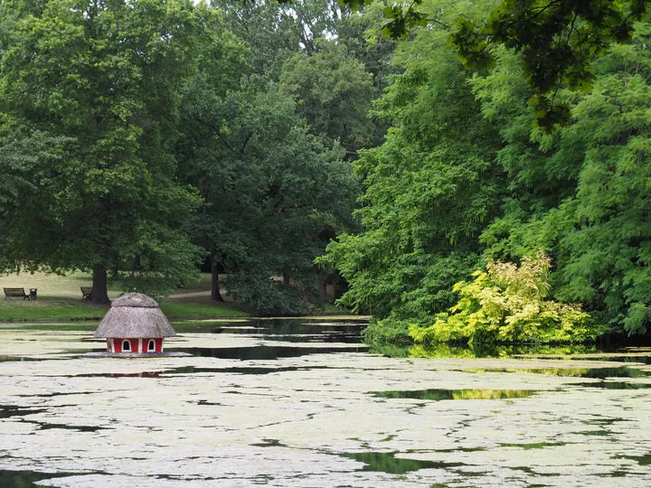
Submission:
[[471,283],[453,288],[459,295],[449,313],[434,324],[410,327],[417,343],[571,343],[594,340],[599,328],[590,327],[580,305],[546,299],[551,260],[539,251],[522,258],[521,265],[488,260],[486,272],[476,271]]

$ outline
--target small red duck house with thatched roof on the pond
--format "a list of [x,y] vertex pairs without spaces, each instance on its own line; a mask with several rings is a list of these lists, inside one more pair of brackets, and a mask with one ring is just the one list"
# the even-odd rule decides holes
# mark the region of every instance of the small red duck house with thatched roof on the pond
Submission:
[[160,354],[165,337],[176,335],[156,300],[141,293],[128,293],[111,302],[95,337],[106,338],[107,352]]

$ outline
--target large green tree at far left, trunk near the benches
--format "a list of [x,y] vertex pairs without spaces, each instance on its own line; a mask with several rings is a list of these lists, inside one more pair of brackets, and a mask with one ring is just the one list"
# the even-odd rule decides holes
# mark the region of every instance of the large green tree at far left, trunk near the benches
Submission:
[[0,14],[0,109],[26,140],[61,141],[57,158],[31,164],[20,207],[5,207],[8,262],[91,270],[99,302],[109,271],[156,293],[191,279],[197,249],[178,228],[200,199],[176,180],[172,148],[203,7],[14,0]]

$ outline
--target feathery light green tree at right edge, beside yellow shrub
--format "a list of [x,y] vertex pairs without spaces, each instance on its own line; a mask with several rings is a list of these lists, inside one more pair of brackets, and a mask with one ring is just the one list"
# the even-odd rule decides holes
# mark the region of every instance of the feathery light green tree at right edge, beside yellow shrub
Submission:
[[[651,272],[646,181],[649,178],[649,23],[637,23],[633,42],[613,45],[595,63],[589,94],[561,94],[571,102],[572,123],[542,137],[540,164],[523,158],[514,180],[538,172],[548,182],[547,205],[529,207],[516,198],[482,237],[495,256],[543,245],[554,256],[554,293],[582,302],[612,330],[644,333],[649,322]],[[504,85],[505,73],[495,70]],[[522,81],[514,80],[516,83]],[[484,88],[482,89],[484,90]],[[486,106],[495,108],[488,97]],[[507,145],[508,147],[508,145]],[[511,148],[514,155],[522,153]],[[529,192],[531,194],[532,191]],[[549,197],[552,194],[553,199]]]

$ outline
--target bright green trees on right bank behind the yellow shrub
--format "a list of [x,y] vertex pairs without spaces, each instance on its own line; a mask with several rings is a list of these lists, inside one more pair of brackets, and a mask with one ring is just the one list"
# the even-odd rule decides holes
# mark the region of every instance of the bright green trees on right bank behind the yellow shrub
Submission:
[[610,331],[645,332],[648,23],[595,61],[589,93],[559,90],[571,123],[547,134],[533,124],[521,51],[493,47],[495,67],[468,72],[446,43],[450,18],[482,19],[493,4],[432,8],[439,27],[415,29],[393,58],[404,73],[379,107],[394,127],[356,165],[364,231],[325,258],[351,284],[344,301],[381,319],[371,333],[417,331],[457,302],[454,283],[482,255],[517,263],[542,247],[553,297]]

